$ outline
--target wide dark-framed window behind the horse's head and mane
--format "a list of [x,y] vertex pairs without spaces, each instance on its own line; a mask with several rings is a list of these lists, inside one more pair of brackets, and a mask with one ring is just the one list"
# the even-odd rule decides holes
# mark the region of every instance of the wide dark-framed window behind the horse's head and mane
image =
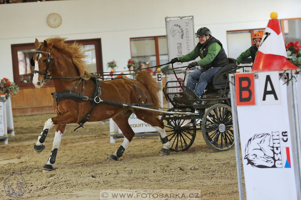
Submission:
[[[83,50],[88,55],[85,58],[87,62],[88,72],[103,72],[101,40],[87,39],[87,40],[72,40],[69,42],[78,42],[82,44]],[[31,83],[34,77],[34,67],[30,64],[30,59],[35,53],[34,43],[27,44],[12,44],[12,59],[13,59],[13,79],[20,88],[34,87]],[[55,59],[55,58],[54,58]],[[48,86],[53,86],[52,81],[47,81]]]

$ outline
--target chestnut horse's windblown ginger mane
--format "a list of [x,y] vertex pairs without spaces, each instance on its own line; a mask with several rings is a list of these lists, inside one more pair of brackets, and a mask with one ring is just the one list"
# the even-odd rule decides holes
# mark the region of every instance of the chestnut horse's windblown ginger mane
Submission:
[[65,37],[54,37],[48,38],[46,41],[49,46],[63,52],[72,59],[73,63],[78,68],[80,76],[90,75],[86,71],[86,61],[84,61],[84,58],[87,58],[88,55],[85,54],[78,42],[71,43],[67,42],[66,39],[67,38]]

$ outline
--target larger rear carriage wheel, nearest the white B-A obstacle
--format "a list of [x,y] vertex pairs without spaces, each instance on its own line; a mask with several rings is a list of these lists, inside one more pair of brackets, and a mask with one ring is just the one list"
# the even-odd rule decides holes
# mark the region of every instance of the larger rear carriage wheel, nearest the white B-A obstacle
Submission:
[[215,151],[228,151],[234,147],[231,107],[215,104],[208,108],[202,121],[202,134],[206,144]]

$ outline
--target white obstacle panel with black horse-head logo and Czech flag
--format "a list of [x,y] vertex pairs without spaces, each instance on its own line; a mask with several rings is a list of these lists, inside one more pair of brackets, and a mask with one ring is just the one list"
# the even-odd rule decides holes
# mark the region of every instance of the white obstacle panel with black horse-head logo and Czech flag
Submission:
[[287,85],[277,80],[272,82],[279,85],[281,104],[262,105],[259,88],[265,81],[255,79],[255,105],[237,106],[248,200],[297,199]]

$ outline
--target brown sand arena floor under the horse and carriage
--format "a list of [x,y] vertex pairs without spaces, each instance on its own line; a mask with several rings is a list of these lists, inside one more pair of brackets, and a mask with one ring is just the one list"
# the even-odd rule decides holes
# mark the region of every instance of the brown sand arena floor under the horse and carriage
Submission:
[[[238,199],[235,149],[214,152],[197,132],[188,151],[161,157],[158,137],[135,137],[120,161],[108,161],[123,139],[109,142],[109,123],[66,126],[58,149],[55,170],[42,173],[50,156],[55,128],[50,129],[45,150],[36,154],[33,145],[53,114],[14,117],[15,136],[0,145],[0,199],[13,199],[4,192],[4,180],[22,173],[25,193],[19,199],[99,199],[100,190],[191,189],[198,199]],[[243,180],[244,182],[244,180]],[[147,199],[147,198],[145,198]]]

